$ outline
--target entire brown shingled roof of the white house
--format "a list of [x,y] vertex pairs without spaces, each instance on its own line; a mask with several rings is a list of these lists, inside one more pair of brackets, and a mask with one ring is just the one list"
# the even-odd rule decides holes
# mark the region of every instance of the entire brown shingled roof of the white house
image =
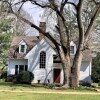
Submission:
[[[55,50],[55,46],[54,44],[46,37],[44,37],[44,39],[49,43],[49,45]],[[16,59],[23,59],[25,57],[26,54],[24,53],[19,53],[19,43],[21,41],[25,41],[25,43],[27,44],[27,50],[26,50],[26,54],[39,42],[41,41],[40,39],[38,39],[36,36],[16,36],[13,38],[12,43],[11,43],[11,47],[9,50],[9,58],[16,58]],[[74,42],[75,43],[75,42]],[[75,43],[76,44],[76,43]],[[60,58],[57,58],[60,60]],[[83,61],[91,61],[92,60],[92,54],[91,54],[91,50],[87,49],[83,51]]]

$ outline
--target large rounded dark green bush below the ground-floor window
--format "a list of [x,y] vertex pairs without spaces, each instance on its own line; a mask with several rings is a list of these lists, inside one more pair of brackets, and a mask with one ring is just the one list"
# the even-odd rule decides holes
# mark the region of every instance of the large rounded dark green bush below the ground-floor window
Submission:
[[34,79],[33,73],[29,71],[21,71],[16,77],[16,82],[22,84],[29,84],[33,79]]

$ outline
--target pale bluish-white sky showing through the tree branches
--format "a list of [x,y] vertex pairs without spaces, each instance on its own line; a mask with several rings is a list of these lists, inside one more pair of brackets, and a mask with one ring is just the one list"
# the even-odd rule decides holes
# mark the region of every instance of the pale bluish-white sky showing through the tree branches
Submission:
[[[17,0],[16,0],[17,1]],[[19,0],[18,0],[19,1]],[[77,3],[78,0],[70,0],[71,2],[75,2]],[[41,21],[44,21],[42,19],[42,15],[43,15],[43,12],[44,10],[38,6],[33,6],[30,2],[27,2],[23,5],[23,9],[24,11],[26,11],[29,15],[32,16],[32,19],[30,19],[31,21],[33,20],[33,22],[36,24],[36,25],[39,25],[39,22]],[[54,25],[54,21],[50,21],[51,25]],[[49,25],[50,26],[50,25]],[[52,26],[53,27],[53,26]],[[50,29],[47,28],[47,31],[49,31]],[[51,31],[51,30],[50,30]],[[37,31],[35,31],[35,33],[38,34]]]

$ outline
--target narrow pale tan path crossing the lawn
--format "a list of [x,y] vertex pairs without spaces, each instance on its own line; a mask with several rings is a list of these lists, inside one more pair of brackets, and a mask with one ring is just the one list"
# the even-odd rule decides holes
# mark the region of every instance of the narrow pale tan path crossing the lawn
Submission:
[[100,95],[100,92],[65,92],[65,91],[21,91],[21,90],[0,90],[0,92],[11,93],[40,93],[40,94],[91,94]]

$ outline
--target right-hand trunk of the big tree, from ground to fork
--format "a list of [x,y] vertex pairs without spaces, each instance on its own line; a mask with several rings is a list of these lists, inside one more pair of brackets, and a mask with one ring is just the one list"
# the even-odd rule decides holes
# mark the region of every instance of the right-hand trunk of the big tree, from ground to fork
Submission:
[[80,66],[82,62],[82,51],[78,52],[74,58],[71,68],[71,87],[79,87]]

